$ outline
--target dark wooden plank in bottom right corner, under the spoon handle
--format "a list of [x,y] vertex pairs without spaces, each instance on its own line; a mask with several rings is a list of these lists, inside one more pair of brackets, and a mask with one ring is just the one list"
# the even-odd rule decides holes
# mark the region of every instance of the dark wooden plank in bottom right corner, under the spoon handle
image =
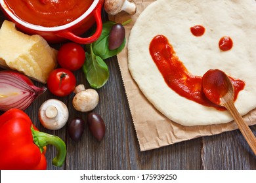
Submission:
[[[255,125],[251,127],[256,134]],[[203,137],[203,169],[256,169],[255,155],[239,130]]]

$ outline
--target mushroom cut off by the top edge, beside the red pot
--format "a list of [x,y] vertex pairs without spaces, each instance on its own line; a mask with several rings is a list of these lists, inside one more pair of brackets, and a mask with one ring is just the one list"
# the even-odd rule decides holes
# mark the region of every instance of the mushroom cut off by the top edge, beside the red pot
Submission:
[[127,0],[105,0],[104,9],[111,15],[115,15],[122,10],[129,14],[135,14],[137,7],[135,3],[131,3]]

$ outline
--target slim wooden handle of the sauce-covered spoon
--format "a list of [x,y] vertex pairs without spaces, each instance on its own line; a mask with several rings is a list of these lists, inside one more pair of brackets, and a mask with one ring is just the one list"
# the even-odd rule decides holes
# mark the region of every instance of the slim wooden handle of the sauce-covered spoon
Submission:
[[256,155],[256,137],[253,134],[253,132],[251,131],[251,129],[249,128],[249,125],[247,125],[244,122],[242,116],[240,115],[240,113],[238,112],[236,107],[234,106],[234,102],[233,101],[226,102],[224,104],[224,107],[226,107],[226,109],[228,109],[228,111],[232,114],[242,135],[244,135],[245,140],[251,147],[251,150],[253,150],[254,154]]

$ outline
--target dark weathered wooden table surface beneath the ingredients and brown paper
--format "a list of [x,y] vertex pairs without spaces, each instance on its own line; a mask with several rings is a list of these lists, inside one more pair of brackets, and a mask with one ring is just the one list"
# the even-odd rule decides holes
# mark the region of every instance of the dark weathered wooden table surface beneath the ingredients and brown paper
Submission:
[[[5,16],[1,13],[0,18],[2,23]],[[108,19],[105,12],[102,12],[102,19],[103,21]],[[51,46],[58,49],[60,44]],[[256,156],[238,130],[140,152],[117,59],[116,57],[107,59],[106,63],[110,78],[105,86],[97,90],[100,102],[93,110],[102,116],[106,124],[106,135],[101,142],[96,141],[87,126],[81,140],[74,142],[68,136],[67,125],[52,131],[40,124],[37,116],[39,107],[44,101],[52,98],[66,103],[70,112],[69,121],[79,116],[86,122],[87,113],[77,112],[72,106],[74,94],[68,97],[56,97],[47,91],[25,110],[40,131],[57,135],[66,142],[66,161],[60,168],[51,164],[56,155],[55,148],[47,147],[47,169],[256,169]],[[82,71],[75,71],[74,74],[77,84],[85,84],[87,88],[89,87]],[[46,86],[39,82],[34,84]],[[256,125],[251,129],[256,135]]]

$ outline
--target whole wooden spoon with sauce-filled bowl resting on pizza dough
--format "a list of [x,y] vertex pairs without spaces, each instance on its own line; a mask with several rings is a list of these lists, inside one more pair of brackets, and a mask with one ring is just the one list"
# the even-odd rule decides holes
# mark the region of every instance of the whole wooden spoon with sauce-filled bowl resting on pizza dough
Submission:
[[256,155],[256,138],[234,105],[234,87],[230,78],[219,69],[211,69],[203,75],[202,87],[209,101],[225,107],[232,114],[242,135]]

